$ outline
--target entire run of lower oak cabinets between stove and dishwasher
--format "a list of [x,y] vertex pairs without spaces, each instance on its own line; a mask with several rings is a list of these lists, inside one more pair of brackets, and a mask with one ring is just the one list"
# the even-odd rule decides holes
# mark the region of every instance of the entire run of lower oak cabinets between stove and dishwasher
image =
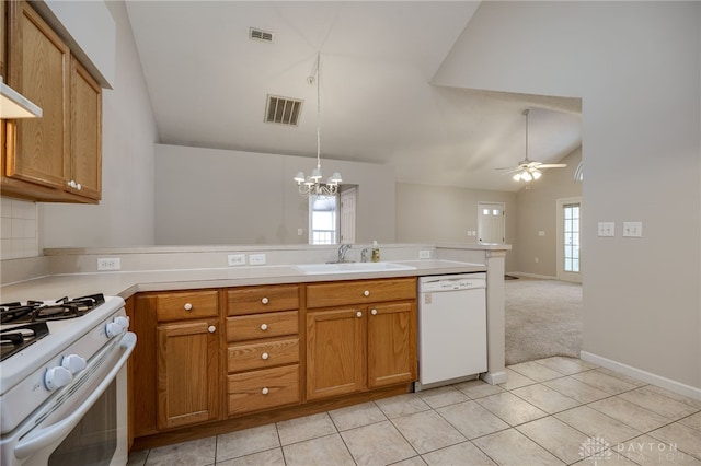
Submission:
[[130,298],[131,438],[152,447],[406,393],[417,374],[415,286],[406,278]]

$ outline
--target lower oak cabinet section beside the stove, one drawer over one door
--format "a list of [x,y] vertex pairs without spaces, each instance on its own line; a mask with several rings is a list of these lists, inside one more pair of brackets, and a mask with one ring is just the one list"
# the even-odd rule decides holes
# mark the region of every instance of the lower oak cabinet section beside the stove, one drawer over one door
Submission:
[[129,361],[135,438],[221,418],[218,296],[218,290],[202,290],[129,300],[127,314],[137,335]]

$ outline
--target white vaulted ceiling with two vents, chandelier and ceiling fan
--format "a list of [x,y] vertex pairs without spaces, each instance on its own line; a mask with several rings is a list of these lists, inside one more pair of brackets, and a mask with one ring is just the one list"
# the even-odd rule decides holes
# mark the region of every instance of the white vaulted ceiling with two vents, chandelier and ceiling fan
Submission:
[[[162,143],[315,156],[308,78],[320,55],[322,164],[389,164],[400,182],[517,190],[495,168],[524,159],[522,112],[529,158],[555,162],[582,143],[581,102],[432,84],[479,7],[127,1]],[[273,40],[251,39],[251,27]],[[268,94],[303,101],[297,126],[264,123]]]

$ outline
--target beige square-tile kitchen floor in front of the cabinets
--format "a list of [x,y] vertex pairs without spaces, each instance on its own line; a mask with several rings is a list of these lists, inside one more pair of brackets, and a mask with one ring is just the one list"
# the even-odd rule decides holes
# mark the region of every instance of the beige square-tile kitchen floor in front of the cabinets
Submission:
[[571,358],[134,452],[129,466],[699,465],[701,401]]

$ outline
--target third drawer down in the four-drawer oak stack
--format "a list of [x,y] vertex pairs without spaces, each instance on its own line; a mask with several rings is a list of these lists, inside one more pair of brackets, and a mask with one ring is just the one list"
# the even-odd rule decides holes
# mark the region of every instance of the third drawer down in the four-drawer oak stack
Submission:
[[299,362],[299,338],[232,345],[228,350],[229,372],[265,369]]

